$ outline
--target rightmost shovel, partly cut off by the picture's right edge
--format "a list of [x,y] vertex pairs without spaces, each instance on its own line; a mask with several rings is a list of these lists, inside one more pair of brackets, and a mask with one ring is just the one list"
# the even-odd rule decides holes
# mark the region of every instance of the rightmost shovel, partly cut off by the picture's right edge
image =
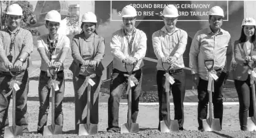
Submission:
[[[255,66],[255,63],[254,63]],[[250,67],[252,71],[254,71],[254,66]],[[247,118],[247,130],[248,131],[256,131],[256,107],[255,107],[255,72],[252,72],[250,74],[250,79],[253,81],[250,81],[250,86],[252,87],[252,107],[254,108],[254,116]]]

